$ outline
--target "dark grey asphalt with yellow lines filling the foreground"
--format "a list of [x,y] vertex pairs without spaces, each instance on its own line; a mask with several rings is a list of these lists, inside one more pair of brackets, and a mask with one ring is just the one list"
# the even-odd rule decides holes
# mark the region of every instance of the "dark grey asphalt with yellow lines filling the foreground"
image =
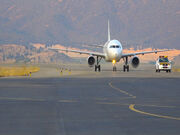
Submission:
[[0,79],[1,135],[179,135],[180,78]]

